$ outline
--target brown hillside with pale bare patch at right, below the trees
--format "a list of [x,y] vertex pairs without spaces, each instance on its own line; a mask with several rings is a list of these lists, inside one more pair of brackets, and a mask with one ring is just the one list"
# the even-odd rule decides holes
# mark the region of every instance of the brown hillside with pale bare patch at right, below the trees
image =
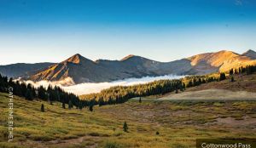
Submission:
[[241,100],[256,99],[256,74],[234,75],[235,82],[230,82],[230,77],[220,82],[204,83],[200,86],[186,88],[178,94],[169,93],[156,97],[148,97],[160,100]]

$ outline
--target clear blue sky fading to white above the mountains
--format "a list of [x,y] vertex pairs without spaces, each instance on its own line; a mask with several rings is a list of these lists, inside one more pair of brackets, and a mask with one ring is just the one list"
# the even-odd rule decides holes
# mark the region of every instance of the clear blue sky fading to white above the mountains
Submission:
[[256,49],[255,0],[0,0],[0,65]]

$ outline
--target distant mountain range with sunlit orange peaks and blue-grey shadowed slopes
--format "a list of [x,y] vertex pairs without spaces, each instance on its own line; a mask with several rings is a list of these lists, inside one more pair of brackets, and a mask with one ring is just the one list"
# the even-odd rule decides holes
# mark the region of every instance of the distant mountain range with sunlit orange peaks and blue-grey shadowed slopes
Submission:
[[222,50],[171,62],[148,60],[136,55],[128,55],[122,60],[93,61],[80,54],[74,54],[56,64],[1,65],[0,72],[9,77],[26,77],[32,81],[59,81],[71,77],[74,83],[101,83],[130,77],[201,75],[255,64],[256,52],[253,50],[248,50],[244,54]]

